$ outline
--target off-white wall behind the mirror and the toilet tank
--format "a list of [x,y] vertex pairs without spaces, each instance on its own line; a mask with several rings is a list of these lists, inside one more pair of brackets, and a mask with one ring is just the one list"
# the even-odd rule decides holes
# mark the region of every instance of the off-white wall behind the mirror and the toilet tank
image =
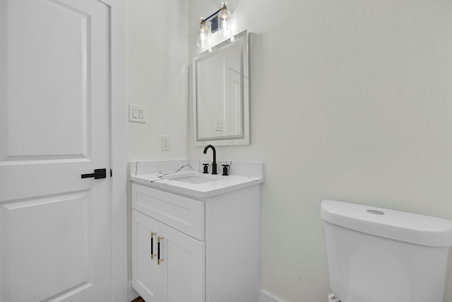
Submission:
[[[217,156],[266,163],[262,288],[281,301],[326,301],[322,199],[452,219],[452,2],[228,4],[237,31],[254,33],[252,133],[251,146],[219,146]],[[189,0],[190,58],[199,17],[219,7]],[[202,158],[192,134],[189,156]]]

